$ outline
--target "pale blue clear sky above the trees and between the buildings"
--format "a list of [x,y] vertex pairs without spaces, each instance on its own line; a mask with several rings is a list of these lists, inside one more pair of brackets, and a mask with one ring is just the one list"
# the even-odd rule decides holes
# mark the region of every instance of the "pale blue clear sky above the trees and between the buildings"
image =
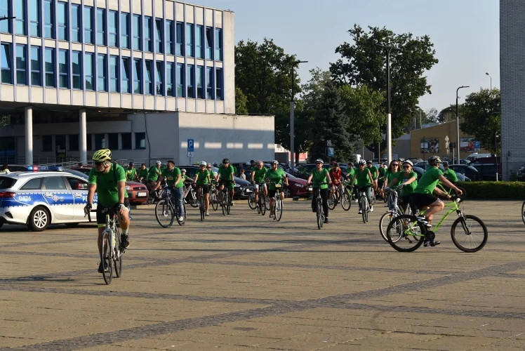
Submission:
[[[428,35],[439,63],[425,72],[432,94],[420,107],[438,111],[460,102],[469,93],[500,87],[498,0],[193,0],[193,4],[229,9],[235,13],[235,41],[265,37],[288,54],[308,63],[300,65],[302,83],[314,67],[328,69],[340,58],[335,48],[350,41],[347,30],[386,27],[394,33]],[[392,107],[394,108],[394,107]]]

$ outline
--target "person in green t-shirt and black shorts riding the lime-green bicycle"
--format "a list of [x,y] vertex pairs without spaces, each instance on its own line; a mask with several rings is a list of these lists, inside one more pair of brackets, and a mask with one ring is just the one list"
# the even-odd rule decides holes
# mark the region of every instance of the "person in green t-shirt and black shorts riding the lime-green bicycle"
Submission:
[[[443,185],[456,190],[456,194],[458,195],[461,194],[461,190],[443,176],[443,172],[439,169],[439,165],[441,164],[439,156],[429,157],[428,164],[430,165],[430,168],[428,168],[425,174],[423,174],[418,182],[418,186],[414,189],[413,194],[411,195],[411,206],[414,206],[419,210],[426,210],[425,216],[419,216],[418,220],[427,227],[432,227],[432,217],[435,213],[438,213],[445,207],[444,202],[435,197],[432,193],[435,192],[440,196],[450,199],[450,195],[436,187],[437,182],[441,181]],[[438,244],[440,244],[439,241],[425,238],[425,246],[436,246]]]

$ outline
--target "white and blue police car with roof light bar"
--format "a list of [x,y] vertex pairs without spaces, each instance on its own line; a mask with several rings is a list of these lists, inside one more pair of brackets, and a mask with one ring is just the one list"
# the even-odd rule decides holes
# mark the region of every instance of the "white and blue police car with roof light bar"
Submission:
[[[50,224],[74,227],[88,222],[87,199],[88,181],[62,167],[29,166],[27,172],[0,174],[0,227],[27,225],[34,232]],[[92,211],[96,203],[95,194]]]

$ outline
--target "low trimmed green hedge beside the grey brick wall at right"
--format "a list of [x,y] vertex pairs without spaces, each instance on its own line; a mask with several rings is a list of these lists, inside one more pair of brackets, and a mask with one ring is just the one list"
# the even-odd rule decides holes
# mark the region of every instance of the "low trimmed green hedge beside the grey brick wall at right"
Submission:
[[467,199],[525,199],[525,182],[458,182]]

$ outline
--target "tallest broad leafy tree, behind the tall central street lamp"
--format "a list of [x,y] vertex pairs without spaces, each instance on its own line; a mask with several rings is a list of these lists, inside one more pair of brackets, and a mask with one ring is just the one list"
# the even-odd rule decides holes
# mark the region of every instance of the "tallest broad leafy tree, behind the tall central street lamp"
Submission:
[[[335,53],[339,53],[341,58],[330,65],[332,77],[340,85],[364,85],[386,97],[386,52],[376,44],[399,48],[390,53],[392,138],[399,138],[413,119],[419,98],[431,93],[423,74],[438,62],[434,57],[434,44],[426,35],[394,34],[384,27],[368,27],[368,32],[364,32],[359,25],[354,25],[348,33],[353,42],[338,46]],[[385,105],[381,111],[386,114]],[[373,147],[368,148],[373,150]]]

